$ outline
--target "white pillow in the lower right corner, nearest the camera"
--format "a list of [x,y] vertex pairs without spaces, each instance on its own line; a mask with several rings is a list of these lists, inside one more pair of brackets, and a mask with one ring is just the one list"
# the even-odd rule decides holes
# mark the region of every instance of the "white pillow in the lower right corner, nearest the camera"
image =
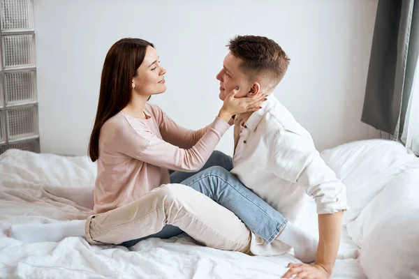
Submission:
[[395,176],[348,234],[361,247],[368,278],[419,278],[419,164]]

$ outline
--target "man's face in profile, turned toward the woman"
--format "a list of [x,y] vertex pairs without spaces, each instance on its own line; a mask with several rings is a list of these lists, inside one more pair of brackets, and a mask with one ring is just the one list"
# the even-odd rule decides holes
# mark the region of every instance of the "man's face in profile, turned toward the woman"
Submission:
[[240,91],[237,93],[236,98],[244,97],[249,92],[251,82],[245,73],[240,70],[240,63],[242,59],[237,58],[231,52],[228,52],[224,58],[223,68],[216,75],[216,79],[220,81],[220,94],[221,100],[226,99],[228,94],[240,86]]

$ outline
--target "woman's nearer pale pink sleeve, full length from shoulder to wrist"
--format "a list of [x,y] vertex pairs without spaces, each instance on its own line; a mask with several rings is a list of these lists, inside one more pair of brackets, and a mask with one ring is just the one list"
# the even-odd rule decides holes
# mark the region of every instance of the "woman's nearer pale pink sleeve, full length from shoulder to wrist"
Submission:
[[135,130],[131,126],[122,130],[122,133],[115,133],[112,142],[117,151],[145,163],[176,171],[196,172],[210,158],[228,128],[230,125],[217,117],[191,149],[165,142],[147,128]]

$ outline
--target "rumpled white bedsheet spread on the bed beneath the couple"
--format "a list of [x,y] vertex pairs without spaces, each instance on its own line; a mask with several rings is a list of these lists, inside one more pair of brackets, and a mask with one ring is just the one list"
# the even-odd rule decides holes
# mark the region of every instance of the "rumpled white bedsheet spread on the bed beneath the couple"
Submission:
[[[47,223],[89,215],[67,199],[46,193],[43,185],[92,186],[96,167],[87,157],[66,158],[9,150],[0,155],[0,278],[280,278],[292,255],[251,257],[198,246],[189,236],[148,239],[129,250],[91,246],[82,238],[27,244],[10,239],[16,223]],[[304,227],[316,234],[316,213]],[[358,248],[343,229],[331,278],[366,278]]]

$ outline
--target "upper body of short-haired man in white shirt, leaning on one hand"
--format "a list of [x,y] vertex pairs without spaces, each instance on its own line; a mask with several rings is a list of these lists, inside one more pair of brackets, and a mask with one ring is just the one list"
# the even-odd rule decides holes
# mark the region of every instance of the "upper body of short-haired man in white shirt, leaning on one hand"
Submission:
[[[260,91],[268,95],[261,110],[235,117],[231,173],[292,222],[297,221],[306,198],[314,198],[319,228],[316,262],[314,266],[290,264],[283,277],[327,278],[339,248],[342,214],[348,208],[346,188],[325,165],[307,130],[273,95],[289,63],[281,47],[265,37],[237,36],[228,48],[216,76],[219,98],[226,98],[235,86],[240,86],[237,98]],[[254,246],[252,252],[274,255],[286,249],[273,241]]]

